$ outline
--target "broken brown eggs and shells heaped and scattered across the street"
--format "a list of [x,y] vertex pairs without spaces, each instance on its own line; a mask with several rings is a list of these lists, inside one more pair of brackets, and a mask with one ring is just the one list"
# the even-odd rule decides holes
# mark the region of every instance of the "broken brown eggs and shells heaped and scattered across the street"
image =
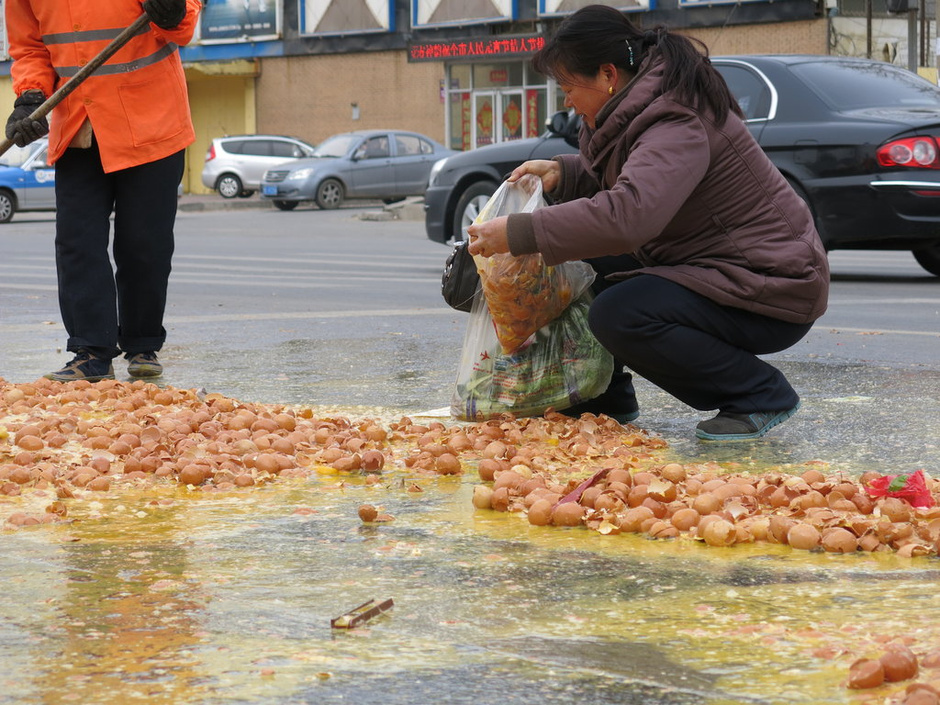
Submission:
[[[799,473],[739,473],[713,463],[664,463],[665,448],[641,429],[589,414],[384,423],[141,381],[0,379],[0,521],[6,529],[68,521],[72,501],[146,483],[244,492],[313,474],[378,484],[389,473],[469,470],[482,482],[474,487],[475,507],[516,512],[538,526],[718,547],[766,541],[831,553],[938,555],[940,507],[873,498],[869,483],[878,473],[827,476],[820,463]],[[924,481],[936,498],[940,483]],[[48,501],[25,510],[18,500],[27,495]],[[360,507],[360,518],[392,520],[373,510]],[[921,659],[934,666],[940,653]],[[846,685],[875,687],[917,673],[918,657],[895,645],[853,664]],[[915,683],[898,702],[940,705],[938,692],[940,683]]]

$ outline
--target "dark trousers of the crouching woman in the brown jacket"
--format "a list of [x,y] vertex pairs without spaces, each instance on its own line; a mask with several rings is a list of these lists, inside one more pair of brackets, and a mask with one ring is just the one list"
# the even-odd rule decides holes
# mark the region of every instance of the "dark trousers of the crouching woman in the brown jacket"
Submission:
[[[598,272],[588,320],[618,366],[703,411],[749,414],[790,409],[799,401],[783,373],[757,356],[789,348],[812,324],[721,306],[655,275],[603,278],[637,268],[632,257],[588,262]],[[628,381],[615,373],[611,384]]]

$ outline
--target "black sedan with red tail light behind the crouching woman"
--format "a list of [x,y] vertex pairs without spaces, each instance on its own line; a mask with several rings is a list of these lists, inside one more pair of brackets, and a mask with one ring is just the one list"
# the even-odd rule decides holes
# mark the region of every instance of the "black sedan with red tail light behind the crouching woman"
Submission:
[[[834,56],[713,57],[764,152],[809,204],[835,249],[911,250],[940,276],[940,88],[891,64]],[[535,140],[435,165],[427,235],[462,239],[502,179],[526,159],[576,151],[565,113]]]

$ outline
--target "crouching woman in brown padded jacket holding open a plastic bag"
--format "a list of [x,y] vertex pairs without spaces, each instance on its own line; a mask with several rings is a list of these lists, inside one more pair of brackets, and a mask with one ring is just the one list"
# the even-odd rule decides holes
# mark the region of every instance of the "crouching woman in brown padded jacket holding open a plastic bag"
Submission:
[[580,154],[522,164],[555,205],[474,225],[470,252],[586,260],[591,329],[618,362],[608,390],[565,413],[639,414],[625,365],[700,410],[706,440],[763,436],[799,408],[758,355],[826,310],[826,252],[800,197],[760,149],[704,47],[578,10],[535,56],[581,115]]

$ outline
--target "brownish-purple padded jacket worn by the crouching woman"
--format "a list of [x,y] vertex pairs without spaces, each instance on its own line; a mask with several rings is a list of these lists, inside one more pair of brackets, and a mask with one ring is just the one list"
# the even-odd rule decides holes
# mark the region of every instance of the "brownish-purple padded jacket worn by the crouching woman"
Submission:
[[792,323],[826,310],[829,264],[802,199],[736,115],[724,125],[662,94],[662,60],[604,106],[580,155],[556,157],[556,205],[509,217],[513,254],[633,254],[635,274]]

